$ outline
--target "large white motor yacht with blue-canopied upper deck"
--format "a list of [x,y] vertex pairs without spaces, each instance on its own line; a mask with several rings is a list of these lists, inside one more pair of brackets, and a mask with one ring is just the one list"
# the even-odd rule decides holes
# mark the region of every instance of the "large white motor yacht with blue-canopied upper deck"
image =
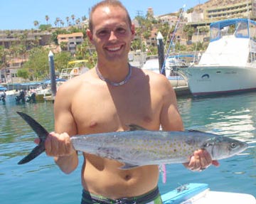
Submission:
[[182,68],[193,96],[256,90],[256,22],[234,18],[210,24],[210,43],[198,65]]

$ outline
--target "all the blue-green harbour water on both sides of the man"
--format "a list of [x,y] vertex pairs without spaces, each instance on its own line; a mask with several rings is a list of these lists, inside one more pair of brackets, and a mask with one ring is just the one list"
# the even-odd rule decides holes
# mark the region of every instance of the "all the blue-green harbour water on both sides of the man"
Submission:
[[[178,98],[186,129],[210,131],[247,141],[244,154],[220,161],[201,173],[188,171],[182,164],[166,166],[167,182],[159,179],[161,193],[185,183],[208,183],[211,190],[250,193],[256,196],[256,93],[192,99]],[[35,146],[35,134],[16,114],[26,112],[53,131],[53,104],[0,102],[0,203],[80,203],[80,168],[62,173],[53,159],[42,154],[31,163],[17,165]],[[82,161],[82,156],[80,156]]]

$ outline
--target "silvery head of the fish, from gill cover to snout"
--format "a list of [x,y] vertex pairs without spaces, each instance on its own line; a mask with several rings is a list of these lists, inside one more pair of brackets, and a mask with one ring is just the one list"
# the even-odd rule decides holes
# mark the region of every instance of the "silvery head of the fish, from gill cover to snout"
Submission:
[[225,159],[247,149],[247,143],[227,136],[214,136],[203,144],[213,160]]

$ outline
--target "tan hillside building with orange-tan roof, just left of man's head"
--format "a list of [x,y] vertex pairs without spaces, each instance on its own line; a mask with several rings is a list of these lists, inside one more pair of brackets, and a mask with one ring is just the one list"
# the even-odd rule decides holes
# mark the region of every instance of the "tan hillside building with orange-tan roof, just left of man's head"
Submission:
[[76,46],[83,42],[83,33],[60,34],[57,39],[58,45],[60,45],[60,51],[67,50],[74,54]]

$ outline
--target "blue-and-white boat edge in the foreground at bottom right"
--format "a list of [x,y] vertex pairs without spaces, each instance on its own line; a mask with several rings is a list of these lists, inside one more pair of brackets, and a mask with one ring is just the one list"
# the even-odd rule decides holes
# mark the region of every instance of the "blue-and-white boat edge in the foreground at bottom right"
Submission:
[[161,195],[164,204],[255,204],[253,195],[210,190],[206,183],[188,183]]

